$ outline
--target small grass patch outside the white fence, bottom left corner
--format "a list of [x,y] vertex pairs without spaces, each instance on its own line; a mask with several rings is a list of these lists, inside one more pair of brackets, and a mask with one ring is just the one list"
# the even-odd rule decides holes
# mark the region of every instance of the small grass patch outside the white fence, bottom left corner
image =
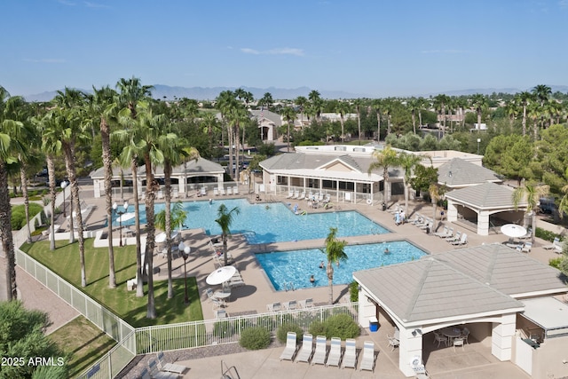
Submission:
[[61,350],[72,354],[71,359],[67,361],[70,377],[75,377],[91,367],[116,344],[111,337],[106,336],[106,333],[83,316],[76,317],[49,337]]

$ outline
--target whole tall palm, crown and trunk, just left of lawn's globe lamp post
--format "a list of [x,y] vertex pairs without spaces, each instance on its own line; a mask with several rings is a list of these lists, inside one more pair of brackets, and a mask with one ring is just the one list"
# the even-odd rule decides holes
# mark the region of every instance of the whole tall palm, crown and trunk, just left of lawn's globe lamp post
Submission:
[[[117,93],[108,86],[99,90],[93,87],[89,97],[94,122],[99,123],[102,144],[102,158],[105,176],[106,233],[108,235],[108,287],[116,288],[113,246],[113,157],[110,149],[110,122],[115,119]],[[121,178],[122,183],[122,178]],[[122,233],[122,231],[120,232]]]

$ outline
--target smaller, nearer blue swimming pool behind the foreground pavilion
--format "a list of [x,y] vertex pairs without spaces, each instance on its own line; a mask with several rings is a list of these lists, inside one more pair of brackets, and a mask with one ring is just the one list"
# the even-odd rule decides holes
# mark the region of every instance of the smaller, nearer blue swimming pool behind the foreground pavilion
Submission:
[[[387,248],[390,254],[384,254]],[[356,271],[395,265],[427,254],[407,241],[347,245],[344,251],[348,259],[339,267],[334,265],[334,284],[351,283]],[[327,259],[319,249],[256,253],[256,259],[276,290],[327,286],[326,268],[319,268],[321,261],[327,266]],[[310,282],[311,275],[315,278],[314,283]]]

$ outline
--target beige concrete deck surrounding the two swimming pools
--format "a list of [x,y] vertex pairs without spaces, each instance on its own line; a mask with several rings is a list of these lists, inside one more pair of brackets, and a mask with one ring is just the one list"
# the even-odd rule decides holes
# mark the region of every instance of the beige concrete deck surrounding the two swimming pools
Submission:
[[[241,190],[246,191],[246,187],[242,186]],[[87,229],[99,229],[105,223],[105,199],[92,197],[92,189],[85,186],[81,191],[82,199],[88,204],[94,205],[94,211],[91,216],[86,220]],[[223,196],[214,197],[213,200],[221,200],[231,197],[246,197],[251,202],[254,200],[254,194],[243,195],[242,193],[237,196]],[[271,196],[273,201],[286,202],[285,197]],[[129,199],[130,200],[130,199]],[[184,199],[182,199],[184,200]],[[187,201],[201,200],[201,199],[188,199]],[[207,198],[203,199],[207,201]],[[177,201],[174,200],[174,201]],[[305,204],[305,203],[304,203]],[[401,202],[404,204],[404,201]],[[377,206],[369,206],[367,204],[348,204],[340,203],[341,210],[357,210],[361,214],[369,217],[380,225],[390,229],[393,233],[387,234],[372,234],[357,237],[345,237],[344,240],[349,244],[361,243],[376,243],[383,241],[400,241],[406,240],[414,243],[420,249],[429,252],[430,254],[437,254],[439,252],[448,251],[455,248],[448,242],[426,234],[414,225],[395,225],[393,216],[387,212],[379,209]],[[410,201],[409,202],[409,217],[412,217],[414,212],[418,211],[428,216],[432,214],[432,206],[430,203],[423,201]],[[313,209],[312,211],[328,211],[333,212],[339,210],[335,209]],[[298,216],[301,217],[301,216]],[[61,220],[62,221],[62,220]],[[447,222],[442,225],[451,225]],[[66,222],[62,222],[62,227],[67,227]],[[466,231],[464,227],[459,225],[454,226],[455,231]],[[441,230],[441,226],[438,228]],[[468,233],[468,247],[481,245],[482,243],[501,243],[507,240],[507,237],[502,234],[491,234],[489,236],[479,236],[472,231]],[[187,260],[188,275],[194,276],[201,293],[203,317],[205,319],[213,319],[214,312],[212,304],[207,300],[207,296],[202,294],[202,290],[208,288],[209,285],[205,282],[205,278],[212,272],[216,266],[212,257],[212,250],[209,247],[209,236],[202,230],[187,230],[182,232],[182,238],[185,243],[192,247],[192,252]],[[548,264],[548,259],[557,257],[554,252],[543,249],[542,247],[548,245],[550,242],[537,239],[533,245],[533,250],[529,254],[530,257],[539,260],[544,264]],[[327,304],[328,303],[328,288],[305,288],[289,291],[275,291],[272,288],[270,280],[264,274],[264,271],[258,265],[254,253],[270,250],[288,250],[288,249],[310,249],[321,248],[324,240],[313,241],[297,241],[297,242],[280,242],[270,243],[263,245],[248,245],[247,241],[240,234],[232,235],[228,242],[230,253],[235,259],[235,267],[241,272],[241,276],[246,285],[241,288],[233,288],[232,296],[227,302],[226,311],[231,315],[263,313],[266,312],[266,305],[273,302],[286,302],[289,300],[304,300],[312,298],[314,304]],[[177,278],[183,277],[183,260],[177,258],[173,261],[173,275]],[[154,275],[154,280],[165,280],[167,278],[167,262],[162,257],[154,257],[154,266],[160,268],[160,272]],[[314,270],[319,270],[314,267]],[[24,303],[28,304],[30,297],[34,296],[37,287],[41,288],[41,284],[30,279],[28,275],[19,273],[18,280],[30,280],[34,283],[28,283],[26,286],[20,286],[22,298]],[[28,299],[28,300],[27,300]],[[348,302],[349,291],[347,285],[334,286],[334,301],[335,302]],[[42,309],[50,314],[58,314],[59,304],[57,301],[50,300],[45,304],[41,302],[34,302],[33,307]],[[61,302],[62,303],[62,302]],[[75,317],[76,313],[68,312],[68,320]],[[63,325],[64,320],[60,320],[58,316],[58,324]],[[55,326],[57,328],[57,325]],[[332,367],[311,366],[305,364],[296,364],[289,361],[280,362],[279,356],[281,348],[266,349],[264,351],[251,351],[237,354],[230,354],[220,357],[209,357],[202,359],[193,359],[183,362],[190,367],[190,370],[185,373],[184,377],[219,377],[221,361],[223,360],[228,366],[235,365],[239,370],[241,377],[248,378],[265,378],[272,377],[278,378],[367,378],[367,377],[388,377],[388,378],[402,378],[404,375],[398,371],[398,350],[390,351],[387,347],[386,334],[392,334],[391,326],[381,326],[376,333],[370,333],[367,329],[363,329],[363,336],[358,338],[358,349],[362,347],[365,340],[375,341],[375,351],[379,351],[376,361],[375,374],[370,372],[355,371],[351,369],[336,369]],[[510,362],[500,362],[493,355],[491,355],[491,346],[486,346],[483,343],[473,341],[466,346],[465,351],[454,352],[453,348],[440,348],[434,349],[432,345],[426,341],[424,343],[424,359],[426,367],[430,372],[430,376],[434,378],[474,378],[485,376],[485,378],[527,378],[522,370]],[[141,360],[140,364],[143,364]],[[213,368],[211,368],[213,367]],[[135,377],[134,375],[125,375],[124,377]]]

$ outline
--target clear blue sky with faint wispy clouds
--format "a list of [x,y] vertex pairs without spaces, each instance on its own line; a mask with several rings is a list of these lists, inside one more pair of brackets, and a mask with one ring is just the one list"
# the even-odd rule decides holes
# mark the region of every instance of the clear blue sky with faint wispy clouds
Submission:
[[568,0],[3,0],[0,9],[0,85],[12,96],[132,76],[357,97],[568,85]]

